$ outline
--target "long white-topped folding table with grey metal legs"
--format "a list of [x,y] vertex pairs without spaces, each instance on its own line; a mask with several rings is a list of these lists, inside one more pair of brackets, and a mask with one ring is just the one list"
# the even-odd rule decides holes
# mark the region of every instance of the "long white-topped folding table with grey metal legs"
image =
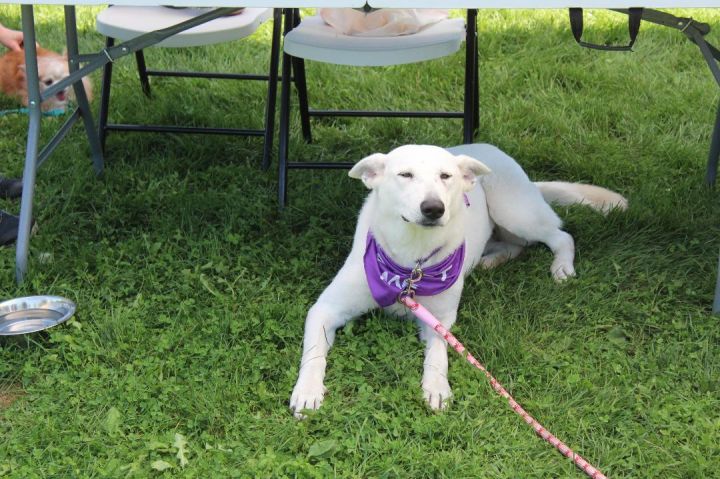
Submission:
[[[21,3],[21,2],[7,2]],[[30,227],[32,218],[32,200],[35,189],[35,176],[37,168],[47,160],[52,151],[67,135],[72,125],[82,119],[87,134],[93,164],[99,174],[103,170],[103,155],[98,139],[95,122],[90,106],[82,89],[80,80],[83,76],[102,68],[108,62],[134,54],[136,51],[150,47],[167,37],[201,25],[214,18],[234,11],[238,6],[244,7],[273,7],[273,8],[301,8],[301,7],[351,7],[351,8],[474,8],[474,9],[545,9],[545,8],[602,8],[612,9],[631,15],[633,7],[645,7],[642,10],[642,20],[647,22],[675,28],[697,44],[705,61],[710,68],[715,81],[720,85],[720,50],[707,43],[704,36],[710,31],[708,25],[691,18],[676,17],[674,15],[654,10],[655,8],[717,8],[720,0],[644,0],[640,5],[635,0],[247,0],[238,4],[237,0],[116,0],[114,5],[155,6],[171,5],[178,7],[219,7],[200,15],[192,20],[180,23],[156,32],[151,32],[119,45],[104,48],[94,54],[81,54],[78,51],[77,27],[75,18],[76,5],[105,5],[100,0],[25,0],[22,3],[22,29],[25,34],[25,57],[27,65],[28,92],[30,104],[27,148],[25,155],[25,169],[23,173],[23,195],[20,207],[20,227],[18,231],[16,248],[16,277],[22,281],[27,272],[27,257],[30,240]],[[37,58],[35,49],[35,20],[33,5],[63,5],[65,9],[65,30],[67,52],[70,62],[70,75],[64,80],[54,84],[40,95],[37,74]],[[225,7],[225,8],[220,8]],[[574,32],[575,33],[575,32]],[[576,38],[579,38],[576,36]],[[61,89],[73,85],[78,100],[78,108],[69,116],[60,127],[57,134],[47,145],[39,150],[40,119],[42,112],[40,103]],[[718,156],[720,156],[720,106],[713,133],[711,136],[710,154],[706,173],[706,182],[715,183]],[[715,287],[713,312],[720,312],[720,262],[718,265],[718,278]]]

